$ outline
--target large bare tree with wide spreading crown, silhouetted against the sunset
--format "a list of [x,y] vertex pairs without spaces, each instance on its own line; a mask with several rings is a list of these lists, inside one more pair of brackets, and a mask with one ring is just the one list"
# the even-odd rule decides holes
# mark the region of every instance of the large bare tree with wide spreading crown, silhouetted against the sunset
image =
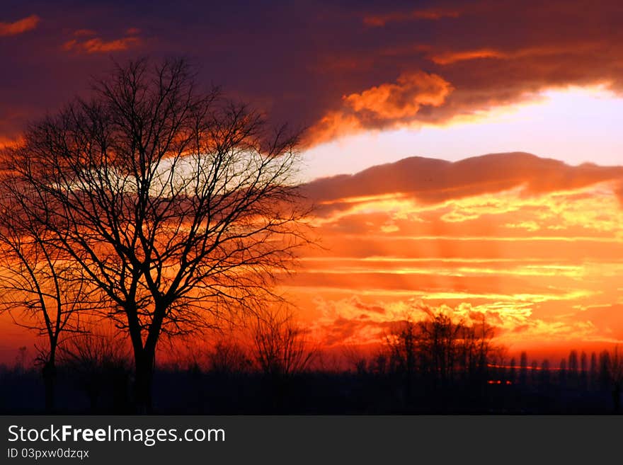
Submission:
[[151,406],[161,335],[278,297],[273,284],[305,241],[297,143],[218,89],[200,91],[184,60],[141,59],[8,150],[30,193],[23,208],[43,212],[50,246],[127,331],[138,411]]

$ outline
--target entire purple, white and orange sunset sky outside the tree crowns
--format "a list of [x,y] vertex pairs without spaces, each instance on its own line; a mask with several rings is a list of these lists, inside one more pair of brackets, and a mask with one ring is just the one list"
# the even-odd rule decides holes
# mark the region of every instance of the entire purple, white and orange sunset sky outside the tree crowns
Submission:
[[623,342],[620,1],[0,4],[0,146],[144,55],[307,128],[321,247],[282,287],[326,347],[422,309],[513,351]]

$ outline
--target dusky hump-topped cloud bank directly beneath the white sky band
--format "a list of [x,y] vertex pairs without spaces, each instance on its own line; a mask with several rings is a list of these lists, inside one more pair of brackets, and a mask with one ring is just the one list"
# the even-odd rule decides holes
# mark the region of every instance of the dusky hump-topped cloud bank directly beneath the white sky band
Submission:
[[461,161],[413,156],[373,166],[354,175],[320,178],[305,186],[317,202],[336,202],[321,210],[341,209],[348,197],[405,193],[422,202],[442,202],[525,186],[527,193],[582,188],[602,181],[623,180],[623,168],[585,163],[569,166],[522,152],[488,154]]

